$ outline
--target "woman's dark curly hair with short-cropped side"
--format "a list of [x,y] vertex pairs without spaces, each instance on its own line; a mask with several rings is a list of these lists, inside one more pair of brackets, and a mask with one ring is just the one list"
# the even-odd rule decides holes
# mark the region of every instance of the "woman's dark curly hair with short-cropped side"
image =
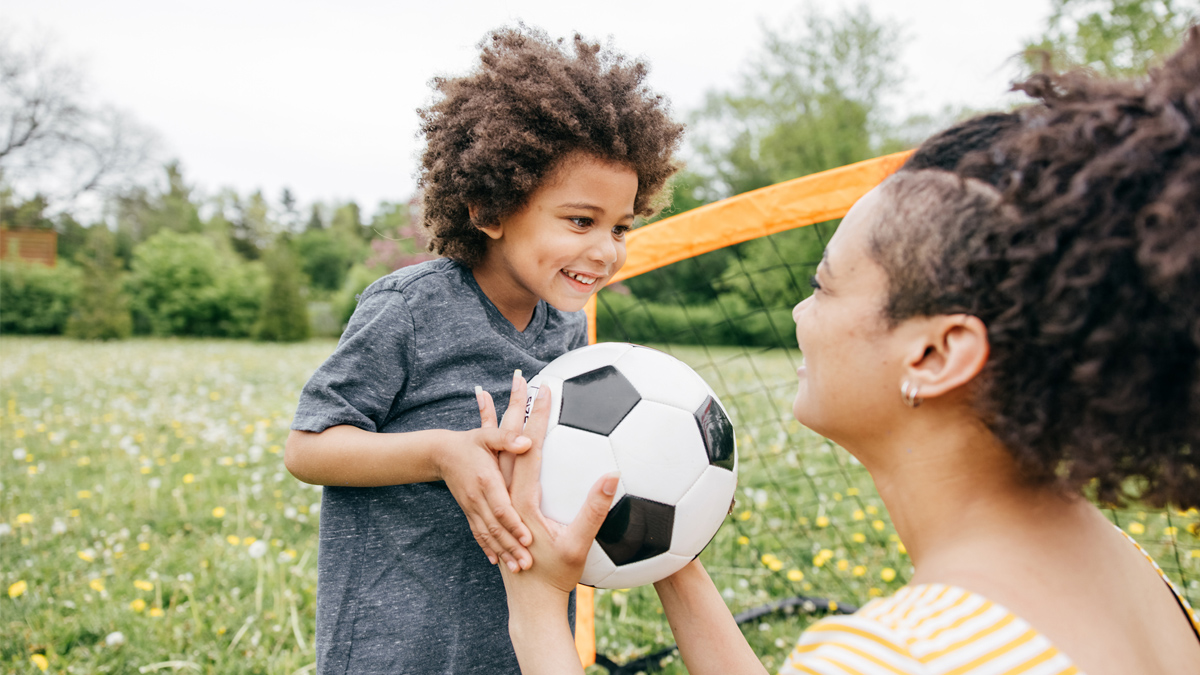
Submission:
[[[1038,100],[1021,129],[956,169],[998,193],[926,175],[961,216],[936,246],[877,228],[904,250],[875,253],[894,280],[886,315],[986,324],[976,405],[1031,480],[1198,506],[1200,29],[1142,80],[1042,73],[1016,89]],[[886,190],[919,192],[930,173]]]

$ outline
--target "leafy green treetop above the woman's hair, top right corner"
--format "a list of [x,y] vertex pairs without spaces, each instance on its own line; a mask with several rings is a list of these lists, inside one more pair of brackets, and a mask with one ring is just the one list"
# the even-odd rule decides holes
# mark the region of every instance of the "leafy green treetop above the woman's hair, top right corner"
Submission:
[[1174,52],[1200,17],[1194,0],[1051,0],[1049,25],[1026,43],[1026,61],[1040,67],[1085,66],[1112,77],[1142,74]]

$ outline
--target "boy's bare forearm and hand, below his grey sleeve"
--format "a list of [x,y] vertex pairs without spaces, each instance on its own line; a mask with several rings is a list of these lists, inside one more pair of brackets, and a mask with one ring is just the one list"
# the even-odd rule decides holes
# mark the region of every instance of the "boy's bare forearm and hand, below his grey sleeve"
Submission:
[[496,453],[523,453],[529,440],[510,429],[376,434],[342,424],[292,431],[283,461],[305,483],[374,488],[445,480],[470,532],[494,565],[527,569],[529,530],[509,500]]

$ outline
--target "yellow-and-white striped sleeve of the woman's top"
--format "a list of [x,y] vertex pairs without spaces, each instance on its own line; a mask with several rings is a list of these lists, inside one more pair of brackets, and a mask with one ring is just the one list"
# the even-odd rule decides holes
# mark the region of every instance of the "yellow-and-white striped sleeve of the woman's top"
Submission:
[[809,627],[780,675],[930,675],[906,641],[877,621],[832,616]]

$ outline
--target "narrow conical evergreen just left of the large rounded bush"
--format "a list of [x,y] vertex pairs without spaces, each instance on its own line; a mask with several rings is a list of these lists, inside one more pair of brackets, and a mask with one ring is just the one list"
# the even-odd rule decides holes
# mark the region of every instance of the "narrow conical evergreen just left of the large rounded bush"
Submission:
[[82,340],[115,340],[133,331],[130,303],[121,288],[121,261],[115,237],[98,225],[88,232],[88,246],[78,258],[82,270],[66,334]]

